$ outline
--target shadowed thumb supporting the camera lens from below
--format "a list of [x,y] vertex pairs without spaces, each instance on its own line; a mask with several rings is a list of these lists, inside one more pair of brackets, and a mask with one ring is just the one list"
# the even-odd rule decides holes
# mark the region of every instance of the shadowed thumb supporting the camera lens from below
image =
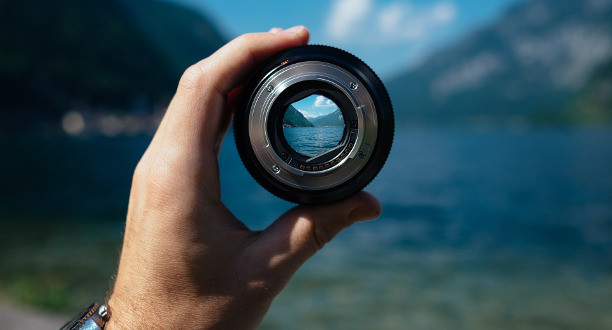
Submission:
[[291,276],[342,229],[380,212],[378,200],[366,192],[329,205],[297,206],[261,233],[258,253],[268,259],[269,270]]

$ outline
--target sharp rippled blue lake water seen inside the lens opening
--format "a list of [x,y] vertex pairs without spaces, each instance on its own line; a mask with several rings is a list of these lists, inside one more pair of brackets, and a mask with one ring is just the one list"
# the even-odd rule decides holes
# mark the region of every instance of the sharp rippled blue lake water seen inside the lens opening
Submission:
[[283,134],[289,146],[298,153],[314,157],[340,143],[344,126],[284,127]]

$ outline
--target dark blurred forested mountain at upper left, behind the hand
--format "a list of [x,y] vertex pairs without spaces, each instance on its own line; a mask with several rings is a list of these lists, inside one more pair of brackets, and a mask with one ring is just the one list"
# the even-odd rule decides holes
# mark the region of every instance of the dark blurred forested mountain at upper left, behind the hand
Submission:
[[0,128],[79,107],[151,111],[225,39],[207,18],[154,0],[0,0]]

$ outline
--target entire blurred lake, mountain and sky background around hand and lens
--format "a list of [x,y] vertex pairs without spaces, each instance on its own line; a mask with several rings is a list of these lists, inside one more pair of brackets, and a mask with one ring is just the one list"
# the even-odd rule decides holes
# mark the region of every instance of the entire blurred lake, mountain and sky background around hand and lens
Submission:
[[[379,73],[397,132],[367,188],[381,218],[261,329],[612,328],[612,0],[0,0],[0,327],[103,300],[182,71],[297,24]],[[250,228],[292,206],[231,134],[219,161]]]

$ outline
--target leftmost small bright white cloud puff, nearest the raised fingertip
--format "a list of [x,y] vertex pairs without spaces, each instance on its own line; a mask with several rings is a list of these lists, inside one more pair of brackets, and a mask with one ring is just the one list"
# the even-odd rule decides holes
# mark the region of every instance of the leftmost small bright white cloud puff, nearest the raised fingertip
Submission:
[[367,17],[372,0],[336,0],[327,20],[327,32],[332,38],[344,39]]

